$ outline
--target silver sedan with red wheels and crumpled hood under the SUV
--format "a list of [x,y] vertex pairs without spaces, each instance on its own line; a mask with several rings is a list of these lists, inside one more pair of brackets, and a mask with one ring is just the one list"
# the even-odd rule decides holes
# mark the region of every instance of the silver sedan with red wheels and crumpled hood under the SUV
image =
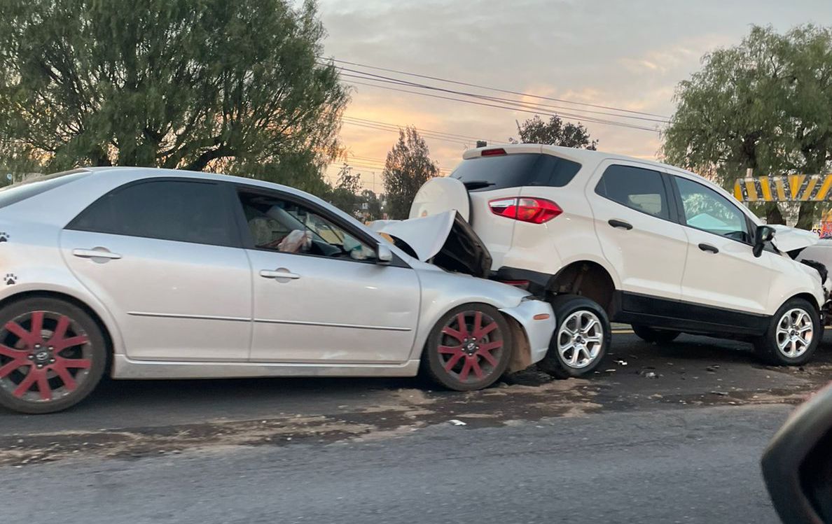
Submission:
[[94,168],[0,190],[0,405],[113,378],[414,376],[540,360],[546,302],[424,264],[334,206],[245,178]]

